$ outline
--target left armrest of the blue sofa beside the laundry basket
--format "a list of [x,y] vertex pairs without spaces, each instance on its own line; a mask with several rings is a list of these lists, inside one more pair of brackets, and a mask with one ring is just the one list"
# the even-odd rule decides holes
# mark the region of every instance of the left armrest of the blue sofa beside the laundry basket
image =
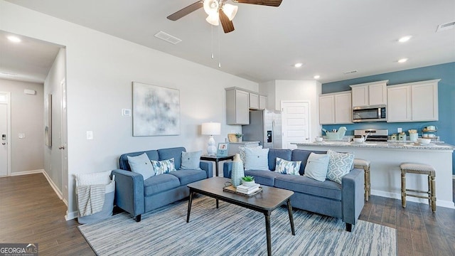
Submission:
[[134,218],[144,213],[144,177],[121,169],[113,170],[112,175],[115,175],[116,205]]

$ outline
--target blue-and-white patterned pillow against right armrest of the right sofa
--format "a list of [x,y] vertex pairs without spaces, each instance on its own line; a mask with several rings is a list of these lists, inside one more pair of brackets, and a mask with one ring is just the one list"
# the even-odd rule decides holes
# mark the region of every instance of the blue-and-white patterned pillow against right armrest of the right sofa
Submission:
[[328,170],[327,178],[331,181],[341,184],[341,178],[349,173],[354,162],[354,154],[338,153],[336,151],[327,151]]

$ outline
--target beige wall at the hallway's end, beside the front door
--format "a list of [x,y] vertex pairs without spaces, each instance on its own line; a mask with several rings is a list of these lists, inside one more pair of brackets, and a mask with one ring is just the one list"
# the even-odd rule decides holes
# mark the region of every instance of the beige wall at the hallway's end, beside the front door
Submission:
[[[25,89],[36,95],[26,95]],[[43,84],[0,79],[0,91],[11,92],[11,174],[42,170]]]

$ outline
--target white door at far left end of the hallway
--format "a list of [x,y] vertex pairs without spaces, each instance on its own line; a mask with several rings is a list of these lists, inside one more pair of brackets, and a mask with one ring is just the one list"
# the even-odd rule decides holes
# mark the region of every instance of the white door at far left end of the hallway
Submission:
[[0,92],[0,176],[11,174],[9,92]]

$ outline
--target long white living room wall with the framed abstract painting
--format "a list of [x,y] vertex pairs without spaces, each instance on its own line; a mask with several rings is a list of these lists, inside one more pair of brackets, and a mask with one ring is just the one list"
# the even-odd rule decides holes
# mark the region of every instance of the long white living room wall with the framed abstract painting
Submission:
[[[0,0],[0,29],[66,46],[69,214],[76,210],[73,174],[117,168],[129,151],[186,146],[205,149],[202,122],[221,122],[223,141],[237,127],[225,125],[225,87],[258,90],[255,82],[206,68],[157,50],[62,21]],[[152,39],[157,40],[157,39]],[[178,46],[176,46],[178,47]],[[181,93],[181,135],[132,137],[132,81]],[[86,139],[92,131],[93,140]]]

